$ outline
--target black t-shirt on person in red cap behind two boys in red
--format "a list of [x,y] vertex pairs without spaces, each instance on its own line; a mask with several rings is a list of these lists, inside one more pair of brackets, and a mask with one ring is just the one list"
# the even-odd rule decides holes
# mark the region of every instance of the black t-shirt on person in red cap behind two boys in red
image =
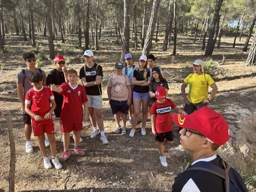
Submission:
[[[63,71],[58,71],[57,69],[52,69],[48,76],[46,77],[46,85],[55,84],[55,85],[62,85],[62,83],[65,82],[65,76]],[[63,96],[62,94],[59,94],[55,91],[52,91],[54,93],[54,99],[56,101],[56,104],[62,105],[63,102]]]

